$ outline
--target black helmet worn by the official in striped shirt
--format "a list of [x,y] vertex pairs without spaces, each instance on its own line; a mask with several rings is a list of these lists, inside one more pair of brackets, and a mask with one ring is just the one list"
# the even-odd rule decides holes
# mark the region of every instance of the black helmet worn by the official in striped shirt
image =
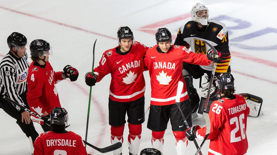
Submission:
[[26,46],[28,44],[28,41],[23,34],[18,32],[12,32],[12,34],[7,38],[7,43],[9,49],[11,49],[13,46],[16,48],[15,50],[17,51],[18,47]]

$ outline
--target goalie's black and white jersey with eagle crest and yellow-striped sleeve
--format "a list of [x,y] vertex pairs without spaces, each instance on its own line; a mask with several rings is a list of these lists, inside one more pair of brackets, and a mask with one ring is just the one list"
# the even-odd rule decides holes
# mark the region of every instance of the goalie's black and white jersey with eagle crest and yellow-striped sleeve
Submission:
[[[231,50],[229,48],[228,31],[224,23],[217,20],[208,20],[208,25],[199,30],[197,22],[190,20],[181,26],[174,44],[185,46],[188,49],[191,47],[190,50],[194,53],[207,54],[210,47],[202,40],[210,43],[222,55],[222,61],[217,64],[216,72],[227,72],[231,60]],[[212,71],[213,64],[200,67]]]

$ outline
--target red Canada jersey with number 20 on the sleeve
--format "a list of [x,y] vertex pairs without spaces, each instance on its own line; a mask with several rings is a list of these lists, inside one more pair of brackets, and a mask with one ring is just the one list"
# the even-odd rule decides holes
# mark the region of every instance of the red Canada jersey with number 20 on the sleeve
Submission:
[[103,53],[99,66],[93,73],[98,75],[97,82],[111,73],[109,97],[113,101],[134,101],[141,98],[145,92],[143,56],[148,47],[133,41],[131,50],[126,55],[116,53],[117,47]]

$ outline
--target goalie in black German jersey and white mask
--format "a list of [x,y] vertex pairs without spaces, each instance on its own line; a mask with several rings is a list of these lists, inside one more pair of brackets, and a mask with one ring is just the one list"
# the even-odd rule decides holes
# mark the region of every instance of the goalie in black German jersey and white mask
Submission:
[[[220,73],[225,73],[227,71],[231,72],[229,64],[231,60],[231,50],[229,47],[229,34],[225,24],[217,20],[208,19],[209,10],[204,4],[201,3],[194,5],[190,13],[192,20],[181,26],[174,44],[186,46],[187,49],[191,48],[190,50],[194,53],[206,54],[210,47],[207,46],[205,42],[202,42],[202,40],[205,40],[214,46],[214,48],[222,55],[222,61],[216,65],[215,78]],[[192,78],[201,78],[204,73],[208,75],[208,80],[207,82],[203,80],[204,82],[201,85],[199,93],[202,97],[206,98],[213,64],[209,66],[203,66],[184,62],[183,65],[183,76],[186,81],[186,86],[191,101],[192,113],[194,113],[193,118],[196,118],[196,111],[199,107],[200,100],[199,95],[194,89]],[[214,82],[215,81],[216,79]],[[211,89],[212,91],[210,100],[216,100],[216,93],[214,93],[216,91],[216,87],[214,82]]]

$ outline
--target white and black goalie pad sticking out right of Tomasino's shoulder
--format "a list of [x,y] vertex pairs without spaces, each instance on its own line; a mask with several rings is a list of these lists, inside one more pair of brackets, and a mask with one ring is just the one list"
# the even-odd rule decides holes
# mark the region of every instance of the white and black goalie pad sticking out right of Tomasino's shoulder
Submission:
[[249,116],[258,117],[261,112],[263,99],[258,96],[248,94],[248,93],[242,93],[240,95],[242,95],[244,97],[246,105],[250,109]]

